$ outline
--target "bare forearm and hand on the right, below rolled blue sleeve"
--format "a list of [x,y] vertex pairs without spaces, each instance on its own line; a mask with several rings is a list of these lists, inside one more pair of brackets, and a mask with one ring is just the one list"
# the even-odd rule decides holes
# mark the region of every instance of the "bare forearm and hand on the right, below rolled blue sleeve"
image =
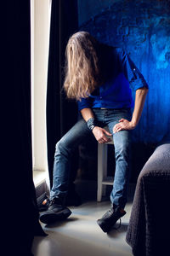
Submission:
[[136,127],[136,125],[138,125],[139,119],[144,108],[144,102],[147,92],[148,89],[146,87],[142,87],[136,90],[134,110],[131,121],[128,121],[127,119],[120,119],[119,123],[116,124],[113,128],[114,133],[122,130],[133,130]]

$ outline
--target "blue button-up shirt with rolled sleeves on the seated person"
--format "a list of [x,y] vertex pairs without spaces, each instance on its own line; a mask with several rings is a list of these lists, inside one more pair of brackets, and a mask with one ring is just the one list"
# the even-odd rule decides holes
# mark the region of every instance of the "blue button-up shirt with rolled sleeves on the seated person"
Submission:
[[143,75],[120,48],[103,44],[102,58],[107,79],[88,98],[77,102],[79,111],[83,108],[132,108],[132,90],[148,88]]

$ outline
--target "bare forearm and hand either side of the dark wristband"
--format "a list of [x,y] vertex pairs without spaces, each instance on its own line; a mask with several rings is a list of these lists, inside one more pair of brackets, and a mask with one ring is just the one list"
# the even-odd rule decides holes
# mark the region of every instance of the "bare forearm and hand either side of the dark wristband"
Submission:
[[[83,108],[81,110],[82,113],[82,118],[88,122],[89,119],[94,118],[94,113],[91,108]],[[111,141],[110,138],[106,137],[111,136],[111,133],[108,131],[105,131],[105,129],[99,127],[99,126],[94,126],[92,132],[94,133],[94,137],[99,143],[108,143]]]

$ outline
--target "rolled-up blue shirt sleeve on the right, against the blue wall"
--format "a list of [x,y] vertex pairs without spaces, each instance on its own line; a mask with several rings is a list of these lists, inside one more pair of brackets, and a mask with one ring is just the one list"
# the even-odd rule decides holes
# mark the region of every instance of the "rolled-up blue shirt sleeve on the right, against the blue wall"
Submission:
[[124,73],[125,77],[127,78],[131,89],[138,90],[142,87],[148,88],[148,84],[146,83],[144,76],[139,72],[138,67],[135,66],[133,61],[123,50],[120,58],[122,73]]

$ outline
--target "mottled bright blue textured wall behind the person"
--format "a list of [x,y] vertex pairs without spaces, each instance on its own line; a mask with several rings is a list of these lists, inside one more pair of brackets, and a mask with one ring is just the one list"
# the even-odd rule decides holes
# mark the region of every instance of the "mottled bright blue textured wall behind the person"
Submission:
[[150,90],[133,140],[159,142],[170,132],[170,1],[80,0],[78,8],[79,30],[125,49],[143,73]]

